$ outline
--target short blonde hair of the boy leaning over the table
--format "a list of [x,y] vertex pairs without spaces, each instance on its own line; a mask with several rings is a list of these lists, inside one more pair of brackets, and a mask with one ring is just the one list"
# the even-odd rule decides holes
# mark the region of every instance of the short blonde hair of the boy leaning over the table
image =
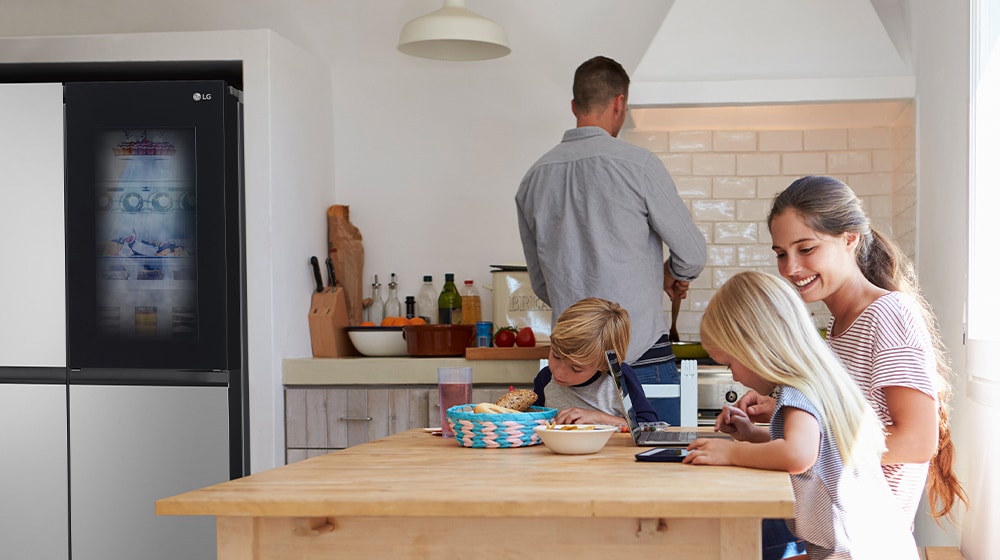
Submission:
[[631,323],[628,311],[615,302],[600,298],[586,298],[566,308],[549,335],[552,351],[574,364],[598,371],[604,352],[614,350],[618,359],[625,361]]

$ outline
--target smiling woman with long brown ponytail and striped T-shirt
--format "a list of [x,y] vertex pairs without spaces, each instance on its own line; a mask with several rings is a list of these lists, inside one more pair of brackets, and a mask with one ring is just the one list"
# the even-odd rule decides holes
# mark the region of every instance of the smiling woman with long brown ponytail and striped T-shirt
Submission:
[[[968,506],[952,470],[952,371],[909,259],[833,177],[793,182],[767,222],[781,275],[807,303],[830,310],[827,341],[885,426],[882,470],[911,523],[925,483],[938,522],[957,502]],[[752,393],[738,406],[755,419],[773,409]]]

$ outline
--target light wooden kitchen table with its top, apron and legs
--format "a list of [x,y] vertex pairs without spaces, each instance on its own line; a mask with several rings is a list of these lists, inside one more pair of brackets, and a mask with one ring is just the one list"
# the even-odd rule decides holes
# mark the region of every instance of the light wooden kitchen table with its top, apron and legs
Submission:
[[218,519],[219,560],[760,558],[792,517],[788,475],[593,455],[470,449],[409,430],[156,502]]

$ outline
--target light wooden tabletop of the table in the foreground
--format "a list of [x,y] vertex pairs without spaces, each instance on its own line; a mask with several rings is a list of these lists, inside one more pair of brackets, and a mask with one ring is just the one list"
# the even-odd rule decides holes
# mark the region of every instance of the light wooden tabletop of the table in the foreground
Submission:
[[157,515],[234,517],[782,518],[786,473],[638,463],[628,434],[593,455],[470,449],[410,430],[156,502]]

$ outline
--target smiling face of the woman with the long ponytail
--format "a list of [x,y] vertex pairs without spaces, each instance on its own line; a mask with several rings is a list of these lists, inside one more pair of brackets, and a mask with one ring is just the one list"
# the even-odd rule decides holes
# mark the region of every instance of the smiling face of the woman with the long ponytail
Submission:
[[807,303],[822,301],[857,273],[857,234],[829,236],[812,230],[801,215],[788,210],[771,220],[771,249],[778,272]]

